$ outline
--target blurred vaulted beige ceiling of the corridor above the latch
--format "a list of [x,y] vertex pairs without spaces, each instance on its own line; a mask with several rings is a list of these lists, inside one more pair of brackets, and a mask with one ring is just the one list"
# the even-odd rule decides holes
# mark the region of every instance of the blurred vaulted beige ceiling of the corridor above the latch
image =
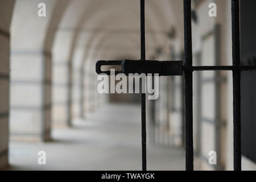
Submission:
[[[157,47],[168,45],[166,32],[171,27],[176,27],[176,35],[183,38],[183,3],[147,0],[145,8],[146,58],[150,59]],[[139,0],[69,0],[68,9],[56,27],[53,52],[56,59],[72,59],[77,66],[86,60],[94,62],[123,55],[139,59],[139,21]]]

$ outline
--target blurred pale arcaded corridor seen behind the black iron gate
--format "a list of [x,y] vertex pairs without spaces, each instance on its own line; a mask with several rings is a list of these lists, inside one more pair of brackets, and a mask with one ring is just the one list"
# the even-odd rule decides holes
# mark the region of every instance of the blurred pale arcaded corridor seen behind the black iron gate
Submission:
[[[256,1],[240,4],[241,63],[256,65]],[[145,9],[146,59],[184,60],[183,1],[146,0]],[[192,0],[193,65],[232,65],[230,9],[230,0]],[[95,71],[97,60],[140,59],[139,13],[139,0],[0,0],[1,169],[141,169],[140,94],[98,93]],[[255,78],[241,78],[248,170]],[[183,76],[160,77],[159,98],[146,101],[149,170],[185,169],[183,85]],[[232,93],[232,72],[193,73],[196,170],[233,169]]]

